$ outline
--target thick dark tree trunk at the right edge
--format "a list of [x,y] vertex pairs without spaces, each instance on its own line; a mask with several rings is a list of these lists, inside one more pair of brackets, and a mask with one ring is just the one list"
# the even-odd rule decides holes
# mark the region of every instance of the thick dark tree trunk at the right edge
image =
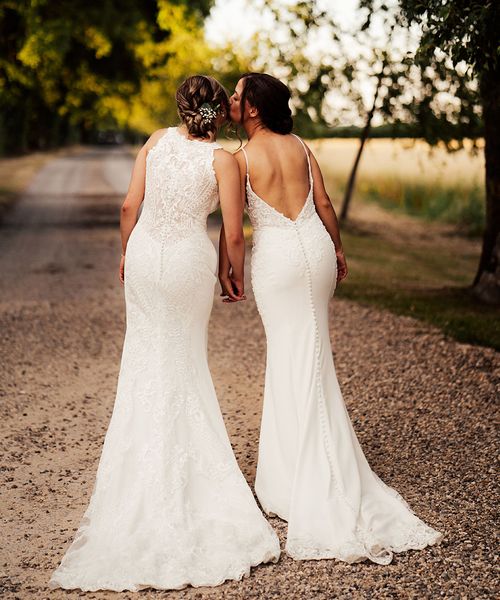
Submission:
[[500,304],[500,68],[481,78],[486,162],[486,223],[474,295]]

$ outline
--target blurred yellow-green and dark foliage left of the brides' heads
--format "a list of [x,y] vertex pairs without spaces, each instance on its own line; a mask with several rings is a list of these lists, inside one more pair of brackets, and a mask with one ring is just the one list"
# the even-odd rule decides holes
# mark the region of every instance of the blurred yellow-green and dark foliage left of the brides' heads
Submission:
[[61,143],[79,132],[173,118],[172,97],[211,55],[212,0],[49,0],[0,8],[0,152]]

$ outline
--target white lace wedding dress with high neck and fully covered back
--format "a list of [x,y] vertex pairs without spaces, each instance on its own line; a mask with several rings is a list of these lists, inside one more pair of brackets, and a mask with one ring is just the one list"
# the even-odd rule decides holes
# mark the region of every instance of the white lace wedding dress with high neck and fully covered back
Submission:
[[214,150],[169,128],[147,155],[127,245],[127,329],[89,505],[51,588],[215,586],[276,561],[279,541],[243,477],[207,364],[217,254]]

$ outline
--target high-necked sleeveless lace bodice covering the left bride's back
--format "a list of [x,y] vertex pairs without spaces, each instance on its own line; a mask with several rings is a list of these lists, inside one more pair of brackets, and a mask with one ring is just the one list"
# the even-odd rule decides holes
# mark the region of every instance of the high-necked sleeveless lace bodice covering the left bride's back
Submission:
[[213,169],[217,142],[184,137],[169,127],[146,159],[146,189],[141,224],[162,242],[206,230],[219,203]]

